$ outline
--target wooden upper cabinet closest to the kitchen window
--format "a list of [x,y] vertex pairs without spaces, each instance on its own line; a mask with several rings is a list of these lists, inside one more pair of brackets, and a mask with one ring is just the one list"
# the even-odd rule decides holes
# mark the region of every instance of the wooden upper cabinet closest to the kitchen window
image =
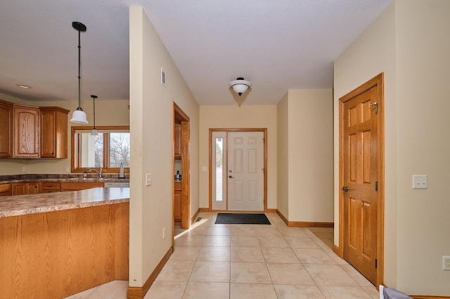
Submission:
[[68,113],[60,107],[39,107],[41,111],[41,158],[68,157]]

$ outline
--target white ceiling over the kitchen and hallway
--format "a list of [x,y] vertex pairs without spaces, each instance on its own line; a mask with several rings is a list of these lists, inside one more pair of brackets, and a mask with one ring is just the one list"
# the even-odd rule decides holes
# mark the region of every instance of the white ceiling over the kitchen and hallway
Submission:
[[[200,105],[243,105],[332,88],[333,60],[392,0],[8,0],[0,4],[0,93],[24,100],[129,99],[129,6],[143,6]],[[29,90],[17,84],[31,86]]]

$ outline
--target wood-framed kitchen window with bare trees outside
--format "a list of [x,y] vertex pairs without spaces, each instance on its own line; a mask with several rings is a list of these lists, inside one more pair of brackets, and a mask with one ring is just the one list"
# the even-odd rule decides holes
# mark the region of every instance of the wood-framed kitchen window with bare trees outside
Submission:
[[129,126],[98,126],[98,135],[91,127],[72,126],[72,172],[103,168],[105,173],[117,173],[120,164],[129,172]]

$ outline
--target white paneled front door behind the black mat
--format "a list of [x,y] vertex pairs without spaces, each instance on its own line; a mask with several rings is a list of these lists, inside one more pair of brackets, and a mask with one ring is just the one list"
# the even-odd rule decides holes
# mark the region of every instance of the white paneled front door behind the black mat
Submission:
[[264,133],[228,133],[228,210],[264,211]]

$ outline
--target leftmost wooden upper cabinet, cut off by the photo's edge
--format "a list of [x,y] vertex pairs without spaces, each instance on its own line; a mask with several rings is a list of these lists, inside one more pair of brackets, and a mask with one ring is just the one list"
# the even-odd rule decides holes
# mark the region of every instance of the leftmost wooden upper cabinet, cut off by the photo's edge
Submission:
[[13,104],[0,100],[0,157],[13,156]]

